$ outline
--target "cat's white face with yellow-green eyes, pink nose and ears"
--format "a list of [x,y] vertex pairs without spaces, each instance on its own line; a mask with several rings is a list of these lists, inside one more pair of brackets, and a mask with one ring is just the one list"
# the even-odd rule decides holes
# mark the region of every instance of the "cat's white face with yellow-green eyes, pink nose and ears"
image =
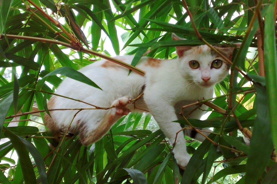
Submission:
[[[174,33],[172,39],[184,40]],[[234,47],[214,47],[231,60]],[[229,74],[230,65],[207,45],[177,46],[176,52],[181,74],[192,84],[212,87]]]

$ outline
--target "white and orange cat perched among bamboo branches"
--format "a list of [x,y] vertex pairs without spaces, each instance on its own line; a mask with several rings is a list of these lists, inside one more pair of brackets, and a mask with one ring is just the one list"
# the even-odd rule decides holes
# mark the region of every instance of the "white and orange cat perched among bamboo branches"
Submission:
[[[182,40],[172,34],[173,40]],[[214,46],[220,53],[231,60],[234,47]],[[185,168],[190,160],[186,151],[185,135],[203,141],[205,137],[196,131],[186,129],[183,133],[179,123],[181,107],[199,100],[213,97],[214,85],[221,82],[228,74],[230,65],[224,62],[216,52],[207,45],[177,46],[177,59],[161,60],[142,57],[137,68],[145,71],[145,76],[131,72],[129,69],[110,62],[100,60],[78,70],[95,82],[102,90],[86,85],[71,78],[65,78],[57,88],[56,94],[79,99],[99,107],[111,107],[109,110],[82,110],[72,121],[78,110],[51,111],[45,114],[44,123],[53,134],[65,130],[72,121],[70,132],[79,132],[83,145],[89,145],[102,138],[111,126],[130,111],[149,111],[157,121],[160,129],[169,139],[174,157],[181,168]],[[116,56],[130,64],[132,55]],[[143,92],[134,104],[131,103]],[[79,101],[73,101],[53,95],[48,101],[48,109],[60,108],[92,108]],[[195,106],[185,108],[184,115],[191,112]],[[203,105],[206,110],[207,106]],[[205,114],[203,110],[195,110],[189,119],[200,119]],[[209,128],[203,129],[211,132]],[[205,135],[209,135],[209,133]]]

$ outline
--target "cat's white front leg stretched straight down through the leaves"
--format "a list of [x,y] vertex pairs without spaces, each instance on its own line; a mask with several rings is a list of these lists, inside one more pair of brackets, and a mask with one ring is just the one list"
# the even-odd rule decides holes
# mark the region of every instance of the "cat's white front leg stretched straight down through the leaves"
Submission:
[[[148,98],[147,95],[144,96],[144,99],[149,111],[158,122],[162,132],[169,139],[171,145],[175,143],[173,148],[174,157],[179,166],[184,169],[190,160],[190,155],[186,150],[184,133],[183,131],[179,132],[182,127],[179,123],[173,122],[177,120],[174,107],[165,101],[161,101],[160,99]],[[179,133],[175,141],[177,132]]]

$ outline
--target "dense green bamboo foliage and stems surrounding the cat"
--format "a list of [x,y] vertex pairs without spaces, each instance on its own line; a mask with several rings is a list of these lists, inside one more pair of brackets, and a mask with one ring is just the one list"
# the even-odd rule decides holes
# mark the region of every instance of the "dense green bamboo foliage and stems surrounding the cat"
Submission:
[[[0,183],[277,183],[276,6],[274,0],[0,0]],[[172,41],[172,32],[186,40]],[[197,104],[209,106],[207,120],[179,121],[214,128],[203,143],[186,137],[192,154],[186,170],[149,114],[124,116],[88,147],[66,132],[57,142],[43,126],[46,102],[63,78],[98,87],[77,72],[96,60],[143,75],[135,67],[143,55],[171,59],[175,46],[234,43],[242,45],[229,61],[230,75],[215,86],[213,101]],[[135,55],[132,66],[115,54]]]

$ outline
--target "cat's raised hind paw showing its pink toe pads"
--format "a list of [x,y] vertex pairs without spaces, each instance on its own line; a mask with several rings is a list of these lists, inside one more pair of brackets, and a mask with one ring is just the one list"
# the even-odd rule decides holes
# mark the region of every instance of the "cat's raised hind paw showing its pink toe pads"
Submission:
[[115,114],[122,116],[122,115],[127,115],[130,111],[126,106],[131,103],[131,98],[128,96],[121,97],[119,99],[116,99],[113,101],[112,106],[115,106]]

